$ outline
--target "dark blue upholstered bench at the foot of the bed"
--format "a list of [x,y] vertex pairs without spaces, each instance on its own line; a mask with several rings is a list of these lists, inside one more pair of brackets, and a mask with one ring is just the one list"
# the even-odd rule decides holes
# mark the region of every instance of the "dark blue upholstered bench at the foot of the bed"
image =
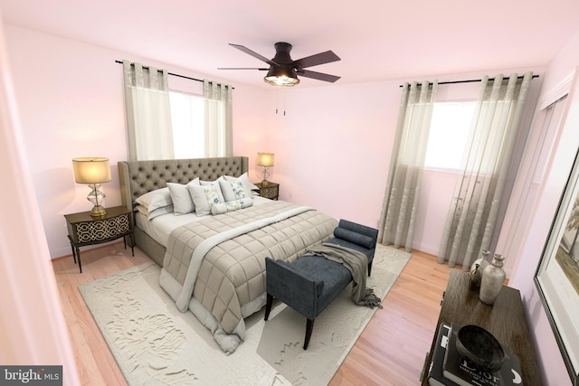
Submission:
[[[368,259],[368,276],[372,273],[372,260],[378,230],[340,220],[334,230],[334,238],[328,240],[365,254]],[[270,317],[273,299],[290,306],[306,316],[306,336],[304,350],[308,349],[314,327],[314,319],[347,287],[352,274],[342,264],[322,256],[305,255],[288,263],[283,260],[266,258],[267,303],[265,320]]]

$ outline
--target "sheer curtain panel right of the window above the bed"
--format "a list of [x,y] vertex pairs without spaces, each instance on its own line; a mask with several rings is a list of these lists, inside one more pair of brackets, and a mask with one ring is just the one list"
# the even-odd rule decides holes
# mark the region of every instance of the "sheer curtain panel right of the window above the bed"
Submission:
[[233,155],[233,88],[203,81],[205,156]]

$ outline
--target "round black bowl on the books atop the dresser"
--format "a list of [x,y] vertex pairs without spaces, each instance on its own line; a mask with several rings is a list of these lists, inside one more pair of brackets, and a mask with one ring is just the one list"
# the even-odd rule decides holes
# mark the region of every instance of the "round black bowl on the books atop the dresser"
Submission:
[[497,338],[478,325],[465,325],[459,329],[456,348],[460,355],[491,372],[498,371],[505,362],[505,352]]

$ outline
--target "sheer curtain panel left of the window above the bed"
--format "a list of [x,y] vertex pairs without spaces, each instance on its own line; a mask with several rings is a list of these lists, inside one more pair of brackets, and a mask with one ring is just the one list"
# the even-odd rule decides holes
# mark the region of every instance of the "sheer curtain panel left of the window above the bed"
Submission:
[[174,158],[167,71],[123,61],[132,161]]

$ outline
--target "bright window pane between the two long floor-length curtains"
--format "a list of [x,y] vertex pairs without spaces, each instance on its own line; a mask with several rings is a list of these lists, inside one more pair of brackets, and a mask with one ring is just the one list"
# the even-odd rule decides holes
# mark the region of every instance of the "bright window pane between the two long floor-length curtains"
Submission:
[[441,102],[432,109],[424,167],[461,169],[476,102]]

